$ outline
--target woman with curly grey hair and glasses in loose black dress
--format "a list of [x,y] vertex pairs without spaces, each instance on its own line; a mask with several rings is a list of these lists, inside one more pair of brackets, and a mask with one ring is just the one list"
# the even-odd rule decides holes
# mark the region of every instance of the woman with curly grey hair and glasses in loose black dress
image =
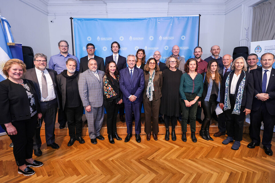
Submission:
[[178,70],[180,61],[170,56],[167,58],[166,66],[168,69],[162,71],[163,83],[162,83],[162,98],[160,104],[160,113],[164,114],[164,124],[166,127],[165,140],[169,140],[169,121],[171,119],[172,132],[171,138],[176,140],[175,127],[177,124],[177,117],[180,114],[180,77],[182,71]]

